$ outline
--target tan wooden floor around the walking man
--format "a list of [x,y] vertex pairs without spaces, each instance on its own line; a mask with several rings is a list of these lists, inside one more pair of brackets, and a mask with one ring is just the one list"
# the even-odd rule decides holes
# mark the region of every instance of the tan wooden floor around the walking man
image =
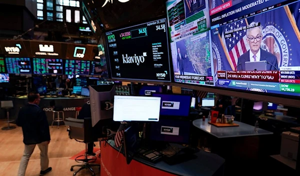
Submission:
[[[6,126],[0,122],[0,129]],[[72,156],[84,150],[83,143],[76,142],[68,138],[67,127],[60,126],[50,127],[51,141],[48,148],[49,167],[52,172],[47,176],[72,176],[70,171],[72,165],[76,165]],[[22,157],[24,144],[22,142],[22,129],[3,131],[0,130],[0,175],[1,176],[17,176],[20,159]],[[96,144],[96,143],[95,143]],[[96,144],[99,147],[99,144]],[[76,169],[76,168],[74,168]],[[96,176],[99,176],[98,170],[94,169]],[[25,176],[39,176],[39,150],[36,147],[29,160]],[[91,176],[87,171],[80,171],[76,176]]]

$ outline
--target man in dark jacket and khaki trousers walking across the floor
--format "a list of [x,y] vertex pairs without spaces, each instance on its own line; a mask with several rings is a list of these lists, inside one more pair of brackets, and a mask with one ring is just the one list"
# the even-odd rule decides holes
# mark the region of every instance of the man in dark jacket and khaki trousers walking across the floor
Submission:
[[40,150],[40,176],[51,172],[48,159],[48,144],[50,142],[49,125],[46,114],[39,108],[40,97],[37,93],[28,94],[28,104],[20,109],[16,125],[22,127],[25,149],[20,162],[18,176],[25,176],[29,158],[35,146]]

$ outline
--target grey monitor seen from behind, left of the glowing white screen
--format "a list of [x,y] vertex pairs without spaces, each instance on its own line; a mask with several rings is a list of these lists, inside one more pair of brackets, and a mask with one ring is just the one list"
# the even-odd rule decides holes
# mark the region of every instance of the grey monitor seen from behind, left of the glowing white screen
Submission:
[[89,86],[91,122],[94,127],[100,120],[111,119],[112,109],[105,110],[105,102],[113,103],[115,87],[113,84]]

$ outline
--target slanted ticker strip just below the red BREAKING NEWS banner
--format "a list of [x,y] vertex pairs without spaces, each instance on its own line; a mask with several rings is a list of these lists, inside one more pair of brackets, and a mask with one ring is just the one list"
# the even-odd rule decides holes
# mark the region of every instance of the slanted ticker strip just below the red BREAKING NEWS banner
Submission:
[[[228,17],[231,18],[231,20],[228,20],[228,21],[225,21],[225,22],[219,23],[219,24],[217,24],[217,23],[211,21],[211,29],[217,28],[217,27],[222,26],[222,25],[225,25],[225,24],[232,23],[232,22],[237,21],[237,20],[240,20],[240,19],[244,19],[244,18],[248,18],[248,17],[250,17],[250,16],[254,16],[254,15],[257,15],[257,14],[262,13],[262,12],[270,11],[270,10],[273,10],[274,8],[278,8],[278,7],[287,5],[287,4],[292,3],[292,2],[295,2],[295,1],[297,1],[297,0],[286,0],[286,1],[283,1],[283,2],[280,2],[280,3],[276,3],[276,4],[273,4],[273,5],[264,7],[264,8],[262,8],[262,9],[256,10],[256,11],[251,12],[251,13],[248,13],[248,14],[244,14],[244,15],[242,15],[242,16],[237,16],[237,17],[234,16],[234,17],[235,17],[234,19],[232,19],[232,16],[231,16],[231,17],[228,16]],[[238,8],[238,7],[236,7],[236,8]],[[218,13],[220,13],[220,12],[218,12]],[[223,14],[223,13],[222,13],[222,14]],[[238,14],[238,13],[237,13],[237,14]],[[214,18],[214,16],[211,16],[211,17],[210,17],[210,19],[212,19],[212,18]],[[226,17],[226,18],[227,18],[227,17]],[[219,20],[224,21],[224,20],[226,20],[226,18],[225,18],[225,19],[221,18],[221,19],[219,19]]]

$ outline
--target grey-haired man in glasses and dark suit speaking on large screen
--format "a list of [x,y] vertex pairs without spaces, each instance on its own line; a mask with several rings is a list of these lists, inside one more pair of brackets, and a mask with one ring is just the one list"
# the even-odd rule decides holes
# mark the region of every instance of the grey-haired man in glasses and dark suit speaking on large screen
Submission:
[[[255,22],[250,23],[250,25]],[[245,62],[257,62],[265,60],[266,70],[278,70],[278,62],[275,55],[260,49],[262,39],[262,26],[252,27],[246,31],[247,43],[250,50],[238,58],[236,70],[245,70]]]

